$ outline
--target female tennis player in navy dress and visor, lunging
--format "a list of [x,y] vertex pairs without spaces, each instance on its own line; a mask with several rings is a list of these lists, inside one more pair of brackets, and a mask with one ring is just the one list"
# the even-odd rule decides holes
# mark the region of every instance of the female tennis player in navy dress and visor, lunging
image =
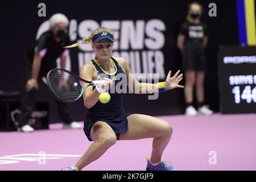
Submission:
[[[171,77],[170,71],[165,82],[150,85],[139,83],[131,74],[127,61],[122,57],[112,56],[114,36],[111,30],[104,27],[97,28],[89,38],[69,47],[86,43],[91,43],[96,56],[82,66],[80,77],[85,80],[98,80],[98,75],[105,73],[106,77],[101,79],[106,80],[106,84],[96,86],[95,89],[90,87],[83,93],[84,105],[88,108],[84,119],[84,132],[93,143],[79,161],[69,169],[81,170],[100,158],[117,140],[154,138],[151,158],[146,158],[146,170],[177,170],[172,164],[167,164],[161,160],[164,148],[166,148],[172,135],[172,127],[168,122],[149,115],[126,113],[122,106],[122,93],[111,93],[111,100],[107,104],[102,104],[98,98],[106,89],[118,84],[120,80],[113,81],[110,79],[110,77],[118,74],[125,74],[127,85],[133,85],[132,90],[138,94],[184,88],[184,86],[179,85],[183,78],[182,74],[179,75],[180,71],[177,71],[173,77]],[[83,87],[86,85],[86,83],[82,84]]]

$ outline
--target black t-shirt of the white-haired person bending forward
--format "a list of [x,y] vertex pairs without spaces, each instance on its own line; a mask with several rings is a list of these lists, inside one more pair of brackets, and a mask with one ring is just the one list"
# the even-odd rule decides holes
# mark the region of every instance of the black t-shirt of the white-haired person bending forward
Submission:
[[69,46],[71,41],[69,35],[65,35],[59,43],[55,42],[52,31],[48,30],[44,32],[40,38],[35,42],[34,46],[27,51],[27,57],[32,62],[34,54],[43,54],[41,63],[42,71],[49,71],[50,69],[56,68],[56,59],[62,55],[65,51],[64,46]]

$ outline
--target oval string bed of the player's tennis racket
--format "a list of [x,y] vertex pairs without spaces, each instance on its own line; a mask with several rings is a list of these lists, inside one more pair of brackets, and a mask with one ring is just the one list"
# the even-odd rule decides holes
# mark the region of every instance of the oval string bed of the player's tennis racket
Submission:
[[68,102],[77,100],[82,90],[75,76],[61,70],[55,70],[49,74],[49,84],[55,96]]

